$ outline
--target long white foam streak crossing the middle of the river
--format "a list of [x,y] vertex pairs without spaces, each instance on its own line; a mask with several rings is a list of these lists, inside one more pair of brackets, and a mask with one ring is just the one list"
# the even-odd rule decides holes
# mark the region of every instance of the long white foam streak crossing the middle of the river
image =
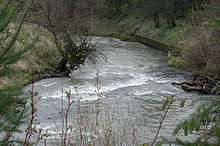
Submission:
[[[135,76],[135,75],[133,75]],[[100,93],[108,93],[120,88],[126,88],[126,87],[132,87],[132,86],[140,86],[140,85],[145,85],[147,84],[148,81],[152,81],[154,80],[153,77],[149,77],[146,76],[144,74],[141,74],[139,76],[135,76],[134,79],[128,80],[126,82],[123,83],[114,83],[114,84],[110,84],[108,86],[102,86],[100,87],[99,92]],[[72,94],[76,94],[76,89],[74,86],[72,85],[65,85],[65,82],[63,82],[63,87],[60,86],[58,84],[60,84],[60,81],[50,84],[50,86],[54,86],[56,85],[56,91],[54,92],[44,92],[44,94],[41,94],[40,90],[38,91],[39,94],[41,95],[42,99],[46,99],[46,98],[63,98],[66,96],[66,92],[71,91]],[[41,84],[38,84],[38,86],[42,86]],[[50,86],[43,86],[44,88],[49,88]],[[62,90],[63,88],[63,90]],[[151,93],[151,92],[150,92]],[[145,92],[145,94],[150,94],[148,93],[148,91]],[[83,86],[78,86],[77,87],[77,94],[80,95],[84,95],[82,98],[83,100],[97,100],[98,96],[97,96],[97,87],[95,85],[91,85],[91,84],[86,84]],[[90,95],[88,95],[90,94]],[[87,96],[86,96],[87,95]],[[95,96],[91,96],[91,95],[95,95]]]

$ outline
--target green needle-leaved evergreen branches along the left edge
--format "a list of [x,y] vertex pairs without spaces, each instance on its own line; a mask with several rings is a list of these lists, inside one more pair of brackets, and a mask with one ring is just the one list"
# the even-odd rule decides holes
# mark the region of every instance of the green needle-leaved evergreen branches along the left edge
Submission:
[[[11,75],[17,72],[13,65],[30,51],[36,42],[34,40],[26,43],[22,48],[16,46],[28,12],[25,10],[25,13],[21,13],[23,2],[20,0],[10,0],[7,3],[0,1],[0,81],[4,77],[12,80]],[[20,14],[22,19],[18,22],[14,18]],[[16,26],[14,32],[9,31],[11,24]],[[21,96],[21,91],[22,86],[19,83],[0,87],[0,145],[14,145],[19,142],[13,135],[20,132],[20,124],[24,120],[26,111],[26,98]]]

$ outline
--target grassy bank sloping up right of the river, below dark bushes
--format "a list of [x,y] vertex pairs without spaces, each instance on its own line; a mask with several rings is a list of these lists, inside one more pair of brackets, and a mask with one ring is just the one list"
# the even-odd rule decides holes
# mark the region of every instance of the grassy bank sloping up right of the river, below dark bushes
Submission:
[[169,50],[168,63],[172,67],[219,78],[219,5],[216,0],[204,4],[203,10],[193,12],[184,20],[176,20],[176,27],[168,27],[166,20],[161,19],[160,27],[156,28],[153,20],[146,18],[143,21],[144,14],[131,13],[101,20],[97,24],[103,28],[94,29],[94,32],[122,40],[129,40],[127,34],[145,37],[145,42],[154,46],[159,43],[162,48],[167,48],[166,51]]

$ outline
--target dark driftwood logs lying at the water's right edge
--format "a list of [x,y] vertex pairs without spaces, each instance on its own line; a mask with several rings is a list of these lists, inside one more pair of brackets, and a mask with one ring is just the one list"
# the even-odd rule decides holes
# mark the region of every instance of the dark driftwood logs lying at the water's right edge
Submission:
[[172,85],[179,85],[184,91],[187,92],[199,92],[201,94],[219,94],[217,93],[217,80],[197,74],[192,81],[186,81],[181,83],[172,83]]

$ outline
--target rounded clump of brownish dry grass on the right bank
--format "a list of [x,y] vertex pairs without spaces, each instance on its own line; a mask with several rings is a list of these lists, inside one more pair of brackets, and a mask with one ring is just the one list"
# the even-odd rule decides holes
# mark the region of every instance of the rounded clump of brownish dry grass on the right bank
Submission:
[[210,76],[218,76],[220,73],[220,43],[216,41],[217,31],[212,29],[193,28],[182,42],[183,50],[181,58],[184,61],[183,68]]

